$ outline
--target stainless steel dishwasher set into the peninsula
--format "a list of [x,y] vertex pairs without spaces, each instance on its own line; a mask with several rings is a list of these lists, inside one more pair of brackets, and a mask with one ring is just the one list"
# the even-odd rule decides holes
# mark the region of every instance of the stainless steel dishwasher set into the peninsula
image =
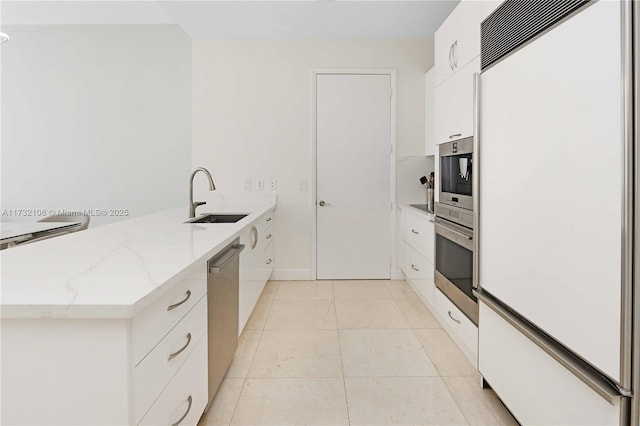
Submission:
[[238,348],[238,285],[240,252],[236,238],[207,262],[209,402],[216,395]]

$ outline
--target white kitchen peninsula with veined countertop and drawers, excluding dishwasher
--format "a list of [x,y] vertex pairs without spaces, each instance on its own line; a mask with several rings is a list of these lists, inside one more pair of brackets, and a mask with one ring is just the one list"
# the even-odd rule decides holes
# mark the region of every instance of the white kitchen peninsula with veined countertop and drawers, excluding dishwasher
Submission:
[[189,224],[177,208],[1,253],[3,423],[197,423],[206,262],[247,245],[240,331],[273,267],[275,197],[218,201],[200,211],[249,215]]

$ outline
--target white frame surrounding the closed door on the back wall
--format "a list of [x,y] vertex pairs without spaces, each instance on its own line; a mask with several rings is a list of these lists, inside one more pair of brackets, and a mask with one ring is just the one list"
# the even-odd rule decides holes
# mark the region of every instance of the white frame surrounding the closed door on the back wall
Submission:
[[391,208],[390,221],[389,221],[389,249],[391,259],[389,259],[389,274],[391,279],[400,277],[400,273],[397,267],[396,256],[396,223],[397,223],[397,206],[396,206],[396,141],[397,141],[397,87],[396,87],[396,70],[395,68],[317,68],[311,71],[311,196],[309,199],[309,206],[311,210],[311,279],[317,280],[317,233],[318,233],[318,221],[317,221],[317,185],[318,185],[318,141],[317,141],[317,77],[319,75],[388,75],[391,79],[391,132],[390,132],[390,149],[391,155],[389,155],[390,161],[390,195],[389,203]]

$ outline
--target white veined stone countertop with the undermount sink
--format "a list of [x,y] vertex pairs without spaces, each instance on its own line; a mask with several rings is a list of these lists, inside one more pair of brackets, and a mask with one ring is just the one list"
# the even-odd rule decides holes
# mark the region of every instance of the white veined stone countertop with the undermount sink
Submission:
[[250,213],[237,223],[186,224],[184,206],[2,250],[0,317],[133,317],[276,205],[232,200],[198,214]]

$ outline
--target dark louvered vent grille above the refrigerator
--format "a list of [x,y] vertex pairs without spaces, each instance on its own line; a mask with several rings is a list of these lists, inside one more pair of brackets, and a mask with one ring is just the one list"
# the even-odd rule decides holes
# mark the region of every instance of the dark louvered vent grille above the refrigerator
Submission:
[[481,69],[499,61],[589,2],[506,0],[482,22]]

